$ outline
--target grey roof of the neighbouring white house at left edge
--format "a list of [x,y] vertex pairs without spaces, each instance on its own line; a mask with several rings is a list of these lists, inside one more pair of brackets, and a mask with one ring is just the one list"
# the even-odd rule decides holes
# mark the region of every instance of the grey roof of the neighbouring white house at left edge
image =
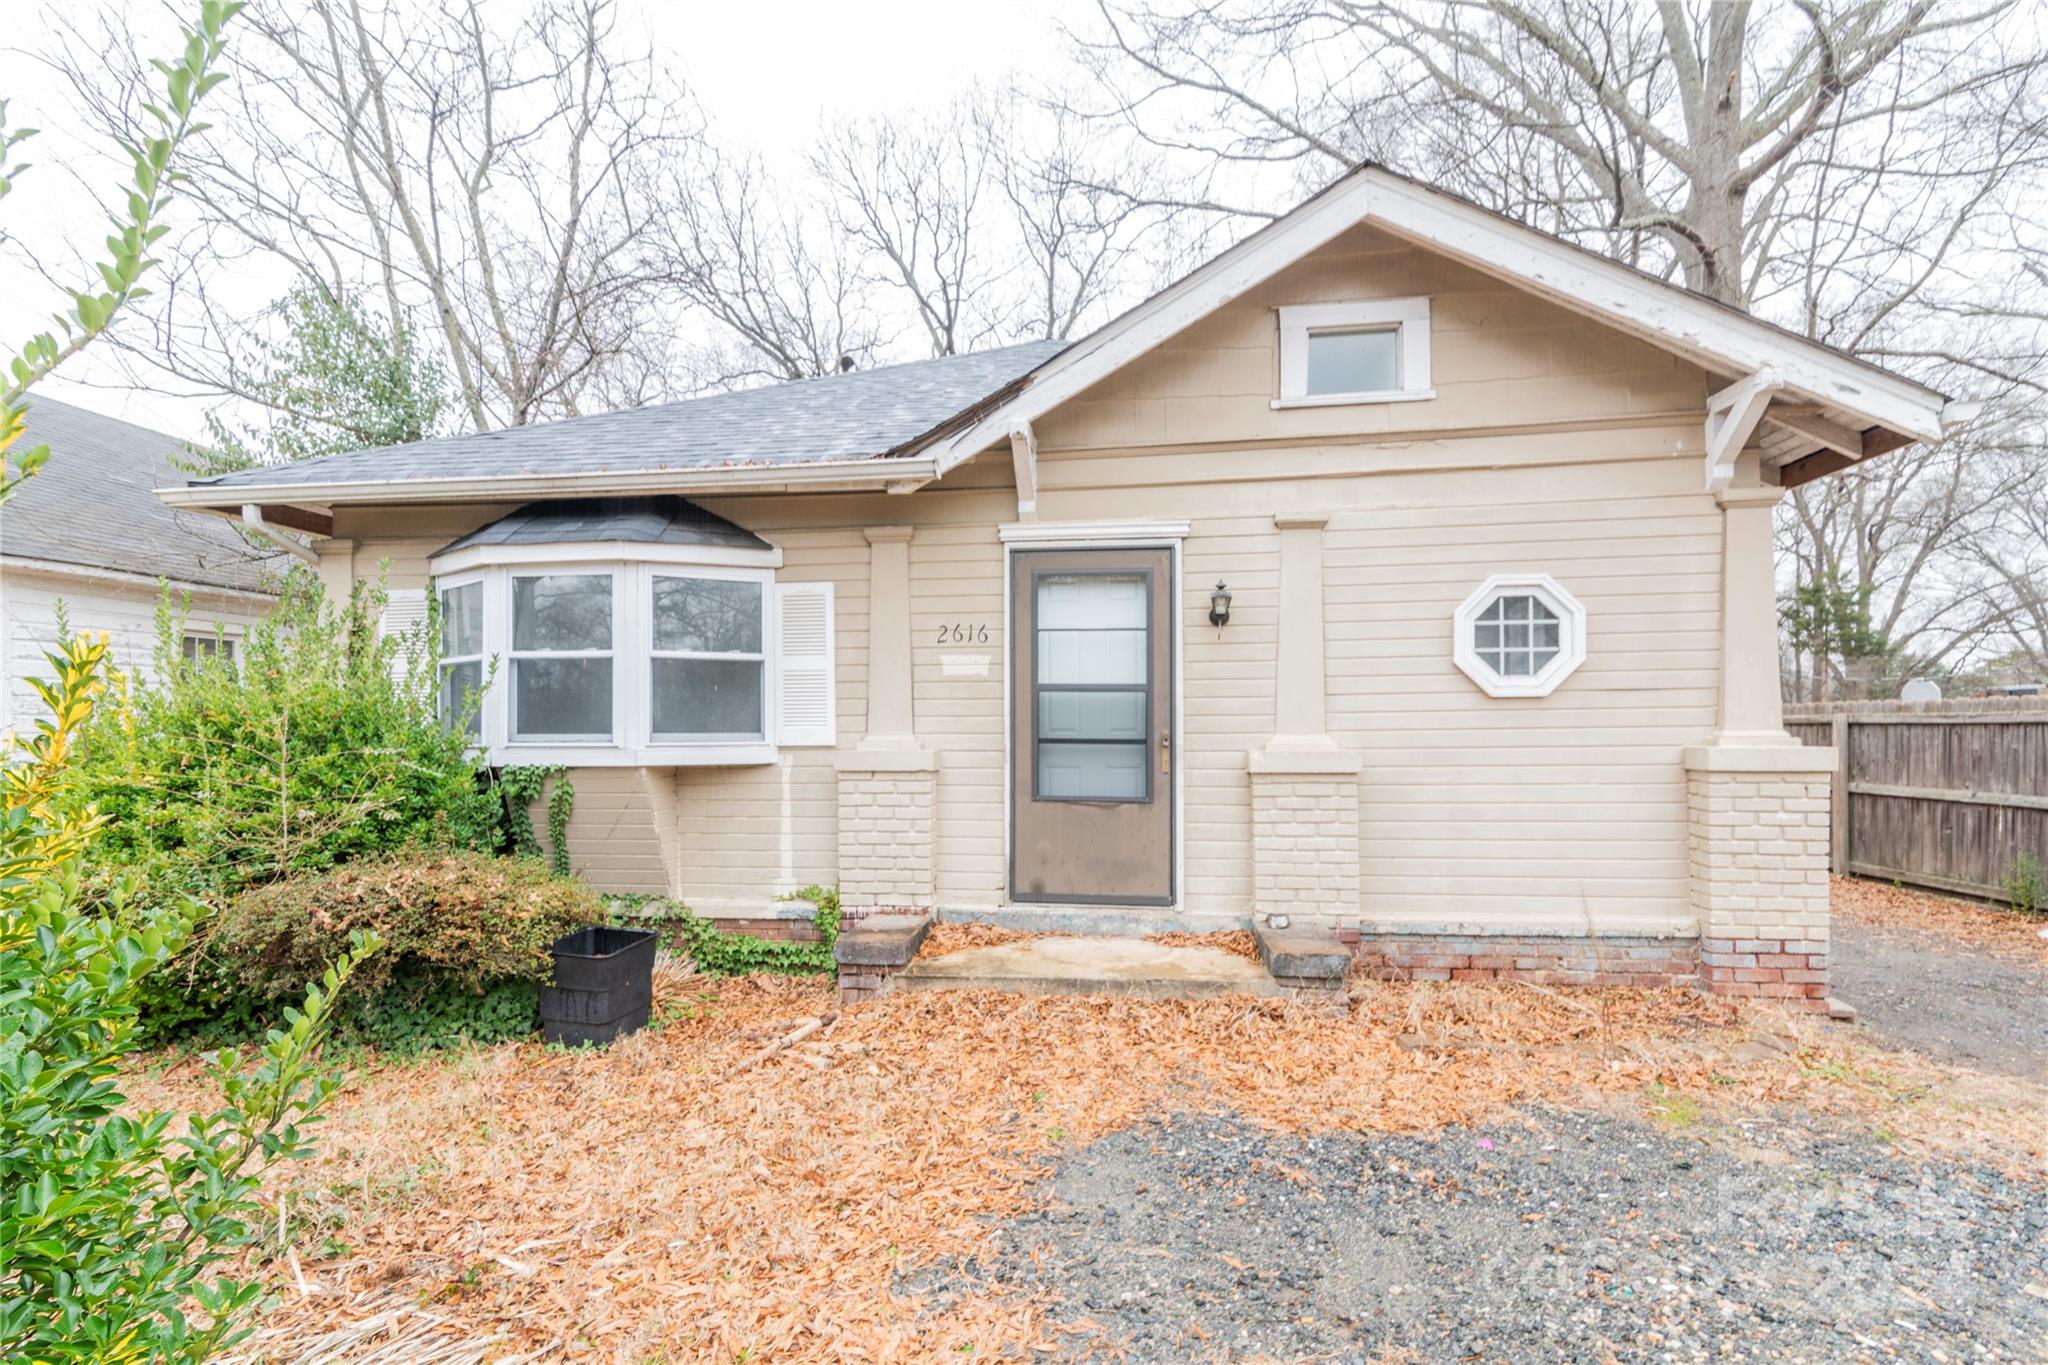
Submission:
[[49,444],[49,463],[0,505],[0,555],[113,569],[205,587],[268,591],[279,555],[250,546],[229,522],[174,512],[156,489],[184,481],[174,436],[29,397],[14,452]]

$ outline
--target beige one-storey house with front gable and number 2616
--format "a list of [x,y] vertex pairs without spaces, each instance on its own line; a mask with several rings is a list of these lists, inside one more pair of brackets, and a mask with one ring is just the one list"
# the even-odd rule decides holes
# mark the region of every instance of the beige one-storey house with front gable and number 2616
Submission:
[[1366,168],[1071,346],[164,499],[432,583],[604,888],[1804,999],[1831,755],[1780,724],[1772,505],[1944,407]]

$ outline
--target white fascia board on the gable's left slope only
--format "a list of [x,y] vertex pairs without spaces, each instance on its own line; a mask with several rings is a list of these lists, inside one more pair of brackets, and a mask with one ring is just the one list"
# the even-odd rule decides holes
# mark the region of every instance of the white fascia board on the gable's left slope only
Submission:
[[1153,346],[1202,321],[1237,295],[1272,278],[1366,217],[1368,172],[1323,190],[1300,209],[1251,233],[1206,266],[1167,284],[1116,321],[1098,327],[1040,366],[1030,385],[971,428],[938,446],[938,473],[975,458],[1090,385],[1114,375]]

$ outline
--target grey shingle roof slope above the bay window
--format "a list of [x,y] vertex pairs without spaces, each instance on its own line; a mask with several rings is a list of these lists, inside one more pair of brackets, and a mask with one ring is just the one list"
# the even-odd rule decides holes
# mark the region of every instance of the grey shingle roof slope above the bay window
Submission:
[[197,483],[395,483],[866,460],[930,434],[1061,350],[1065,342],[1026,342],[682,403],[350,450]]

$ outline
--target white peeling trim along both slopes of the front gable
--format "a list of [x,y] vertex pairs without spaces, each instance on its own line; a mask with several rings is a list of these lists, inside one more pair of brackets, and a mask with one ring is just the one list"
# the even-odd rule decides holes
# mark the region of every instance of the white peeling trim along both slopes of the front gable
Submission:
[[[1690,289],[1573,246],[1456,194],[1366,164],[1298,209],[1040,364],[1014,397],[934,442],[936,469],[973,458],[1010,432],[1108,379],[1194,321],[1272,278],[1358,223],[1528,289],[1729,379],[1759,377],[1823,436],[1765,440],[1778,465],[1833,452],[1839,469],[1915,440],[1939,440],[1948,399],[1917,381],[1751,317]],[[1767,415],[1767,413],[1765,413]],[[1853,436],[1853,450],[1845,436]],[[1821,471],[1827,473],[1827,471]]]

